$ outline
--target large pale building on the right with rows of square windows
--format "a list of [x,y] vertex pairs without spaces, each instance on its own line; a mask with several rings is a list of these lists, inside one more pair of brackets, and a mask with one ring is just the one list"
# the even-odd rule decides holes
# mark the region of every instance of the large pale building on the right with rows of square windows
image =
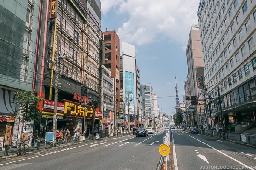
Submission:
[[[255,126],[256,0],[201,0],[201,47],[212,115],[224,128]],[[221,106],[221,107],[220,107]]]

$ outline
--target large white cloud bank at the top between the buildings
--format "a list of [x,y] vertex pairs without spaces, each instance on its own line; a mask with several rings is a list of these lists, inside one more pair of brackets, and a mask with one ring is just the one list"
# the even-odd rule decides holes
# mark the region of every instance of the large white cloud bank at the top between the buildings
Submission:
[[199,0],[102,0],[102,13],[127,14],[117,30],[124,42],[144,45],[169,39],[186,49],[189,30],[197,24]]

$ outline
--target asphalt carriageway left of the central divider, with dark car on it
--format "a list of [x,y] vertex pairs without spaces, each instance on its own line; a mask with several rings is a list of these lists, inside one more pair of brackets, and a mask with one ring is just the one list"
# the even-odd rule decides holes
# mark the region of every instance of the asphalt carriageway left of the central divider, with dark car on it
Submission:
[[167,130],[103,139],[0,162],[2,170],[156,170]]

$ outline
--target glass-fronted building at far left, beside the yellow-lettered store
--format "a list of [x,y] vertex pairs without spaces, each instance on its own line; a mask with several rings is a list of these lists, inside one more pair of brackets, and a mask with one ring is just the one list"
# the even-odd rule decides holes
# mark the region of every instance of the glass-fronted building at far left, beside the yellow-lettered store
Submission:
[[[0,132],[6,131],[6,125],[15,125],[12,141],[21,134],[19,118],[11,116],[19,108],[12,102],[14,91],[34,91],[39,11],[39,1],[0,2]],[[33,130],[33,125],[26,127]]]

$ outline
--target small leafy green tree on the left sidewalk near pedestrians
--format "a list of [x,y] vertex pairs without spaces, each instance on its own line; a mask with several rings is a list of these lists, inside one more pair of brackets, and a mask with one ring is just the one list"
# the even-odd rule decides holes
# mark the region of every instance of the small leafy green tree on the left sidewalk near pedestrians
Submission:
[[16,103],[19,106],[19,109],[17,109],[13,115],[15,117],[22,117],[21,132],[23,132],[25,122],[32,120],[38,121],[38,119],[41,117],[41,111],[37,107],[38,102],[41,102],[43,98],[35,96],[35,94],[31,91],[15,91],[14,95],[15,97],[12,102]]

